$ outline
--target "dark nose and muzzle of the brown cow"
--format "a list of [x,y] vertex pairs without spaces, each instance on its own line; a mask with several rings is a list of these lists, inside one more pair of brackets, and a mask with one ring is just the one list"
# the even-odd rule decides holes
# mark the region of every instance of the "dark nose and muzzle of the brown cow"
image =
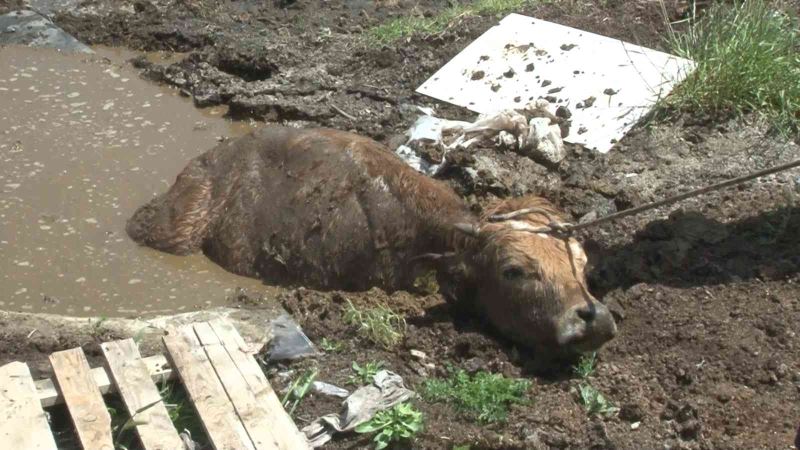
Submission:
[[557,340],[577,352],[597,350],[617,334],[617,324],[606,305],[592,301],[568,309],[559,320]]

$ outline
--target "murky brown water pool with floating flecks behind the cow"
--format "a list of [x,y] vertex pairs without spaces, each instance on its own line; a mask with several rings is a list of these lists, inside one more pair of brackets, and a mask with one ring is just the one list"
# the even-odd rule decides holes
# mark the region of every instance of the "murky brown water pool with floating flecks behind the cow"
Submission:
[[125,234],[189,159],[251,126],[140,79],[123,56],[0,48],[0,309],[174,312],[262,289]]

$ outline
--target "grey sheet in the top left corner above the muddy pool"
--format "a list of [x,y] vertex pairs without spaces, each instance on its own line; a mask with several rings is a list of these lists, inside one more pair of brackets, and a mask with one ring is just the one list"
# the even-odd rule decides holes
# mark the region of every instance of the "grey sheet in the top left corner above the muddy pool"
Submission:
[[28,10],[12,11],[0,16],[0,44],[21,44],[69,52],[94,53],[50,19]]

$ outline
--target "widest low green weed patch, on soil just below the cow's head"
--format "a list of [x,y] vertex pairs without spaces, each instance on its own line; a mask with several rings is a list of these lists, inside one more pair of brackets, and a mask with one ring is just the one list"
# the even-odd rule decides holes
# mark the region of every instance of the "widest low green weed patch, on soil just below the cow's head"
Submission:
[[505,422],[514,404],[527,404],[530,381],[506,378],[501,374],[463,370],[452,371],[445,379],[427,380],[423,397],[431,402],[446,402],[456,411],[481,423]]

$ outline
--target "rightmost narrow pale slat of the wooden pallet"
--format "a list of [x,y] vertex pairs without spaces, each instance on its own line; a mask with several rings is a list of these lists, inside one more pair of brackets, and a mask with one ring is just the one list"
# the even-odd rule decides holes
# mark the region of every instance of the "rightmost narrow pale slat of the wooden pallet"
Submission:
[[246,353],[247,346],[236,328],[228,321],[214,319],[209,322],[219,340],[224,344],[236,368],[239,370],[244,382],[267,414],[266,421],[270,424],[273,436],[281,450],[306,450],[309,449],[308,441],[303,433],[297,429],[294,421],[283,409],[266,375],[261,370],[253,355]]

